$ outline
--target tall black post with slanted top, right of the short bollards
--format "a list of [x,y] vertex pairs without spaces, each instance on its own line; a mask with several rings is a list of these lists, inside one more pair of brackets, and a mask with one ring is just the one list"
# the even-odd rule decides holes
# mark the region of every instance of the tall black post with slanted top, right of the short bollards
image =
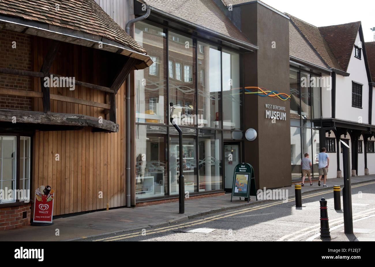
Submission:
[[351,204],[351,170],[349,147],[342,145],[342,163],[344,166],[344,188],[342,189],[342,199],[344,203],[344,232],[353,234],[353,213]]

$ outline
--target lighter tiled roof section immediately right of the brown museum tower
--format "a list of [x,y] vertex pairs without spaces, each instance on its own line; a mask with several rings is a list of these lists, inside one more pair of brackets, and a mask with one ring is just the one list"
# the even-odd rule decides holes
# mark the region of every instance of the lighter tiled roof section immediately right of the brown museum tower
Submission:
[[302,37],[301,33],[297,31],[291,21],[289,21],[289,54],[322,68],[327,68],[326,64],[318,57],[317,53]]

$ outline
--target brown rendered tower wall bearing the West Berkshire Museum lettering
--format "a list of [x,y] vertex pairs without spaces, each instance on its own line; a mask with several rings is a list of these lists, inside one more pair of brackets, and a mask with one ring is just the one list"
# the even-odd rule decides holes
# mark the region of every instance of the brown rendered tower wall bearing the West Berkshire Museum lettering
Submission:
[[[242,32],[259,46],[244,55],[244,86],[290,94],[289,21],[258,3],[241,6]],[[272,48],[272,42],[276,48]],[[254,90],[254,89],[249,89]],[[255,141],[245,139],[245,162],[254,166],[257,188],[291,185],[290,102],[279,98],[245,95],[245,130],[254,128]],[[285,107],[286,121],[266,118],[265,104]]]

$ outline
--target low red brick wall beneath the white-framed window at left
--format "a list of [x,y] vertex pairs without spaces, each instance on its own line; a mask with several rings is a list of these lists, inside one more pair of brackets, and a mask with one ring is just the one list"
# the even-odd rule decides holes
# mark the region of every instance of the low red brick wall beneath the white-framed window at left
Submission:
[[[30,207],[31,203],[14,207],[0,208],[0,231],[29,225],[31,216]],[[26,214],[24,214],[24,212],[26,212]]]

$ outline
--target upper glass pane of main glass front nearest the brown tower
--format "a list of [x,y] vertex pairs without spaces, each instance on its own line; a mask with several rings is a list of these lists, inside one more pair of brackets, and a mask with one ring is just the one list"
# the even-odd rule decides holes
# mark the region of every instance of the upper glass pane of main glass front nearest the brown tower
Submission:
[[242,129],[242,88],[240,88],[240,55],[223,49],[223,128]]

